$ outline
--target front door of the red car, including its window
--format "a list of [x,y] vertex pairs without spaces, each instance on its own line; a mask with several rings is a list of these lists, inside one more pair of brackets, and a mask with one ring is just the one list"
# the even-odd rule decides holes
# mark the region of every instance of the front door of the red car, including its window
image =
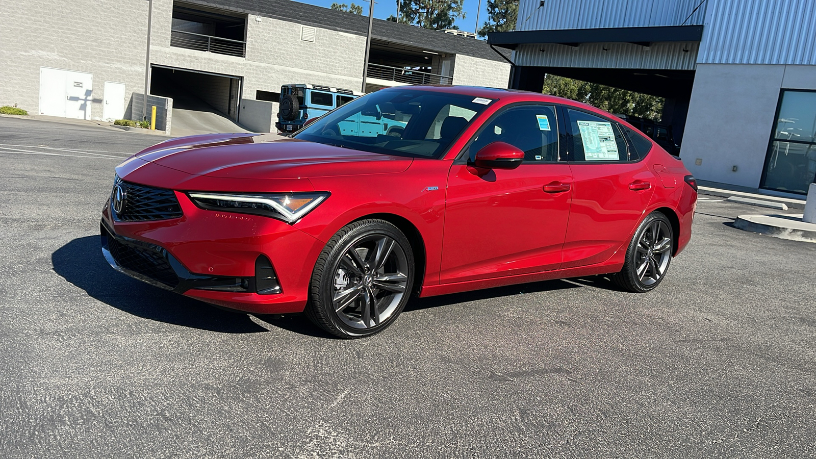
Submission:
[[556,270],[570,214],[570,167],[558,163],[552,105],[517,105],[491,118],[468,147],[503,141],[525,152],[514,170],[450,168],[441,283]]

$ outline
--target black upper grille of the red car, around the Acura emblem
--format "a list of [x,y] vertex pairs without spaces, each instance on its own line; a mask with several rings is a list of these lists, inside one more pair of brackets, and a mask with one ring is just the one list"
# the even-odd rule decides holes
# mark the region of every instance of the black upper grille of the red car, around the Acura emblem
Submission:
[[[182,216],[179,200],[172,189],[137,185],[121,179],[116,186],[125,191],[121,212],[113,212],[118,221],[166,220]],[[113,202],[113,197],[111,199]]]

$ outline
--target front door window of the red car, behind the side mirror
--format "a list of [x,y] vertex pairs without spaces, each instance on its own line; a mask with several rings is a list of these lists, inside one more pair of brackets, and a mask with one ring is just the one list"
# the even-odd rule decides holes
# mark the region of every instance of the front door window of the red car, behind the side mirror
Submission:
[[468,149],[476,152],[493,142],[505,142],[524,152],[524,163],[558,161],[558,123],[552,105],[519,105],[491,119],[477,132]]

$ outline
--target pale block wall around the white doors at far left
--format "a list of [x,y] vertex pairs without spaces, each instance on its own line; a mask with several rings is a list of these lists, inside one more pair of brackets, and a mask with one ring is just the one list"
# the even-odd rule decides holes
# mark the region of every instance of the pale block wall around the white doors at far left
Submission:
[[[164,1],[164,0],[162,0]],[[19,0],[0,7],[0,105],[38,114],[40,67],[93,74],[91,118],[102,118],[104,82],[144,87],[148,2]]]

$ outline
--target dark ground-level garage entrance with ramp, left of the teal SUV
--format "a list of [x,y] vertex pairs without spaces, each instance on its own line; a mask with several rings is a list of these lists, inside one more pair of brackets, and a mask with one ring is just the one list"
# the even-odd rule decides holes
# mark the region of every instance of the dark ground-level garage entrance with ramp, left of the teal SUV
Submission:
[[215,112],[236,121],[241,78],[153,65],[150,94],[171,97],[174,109]]

